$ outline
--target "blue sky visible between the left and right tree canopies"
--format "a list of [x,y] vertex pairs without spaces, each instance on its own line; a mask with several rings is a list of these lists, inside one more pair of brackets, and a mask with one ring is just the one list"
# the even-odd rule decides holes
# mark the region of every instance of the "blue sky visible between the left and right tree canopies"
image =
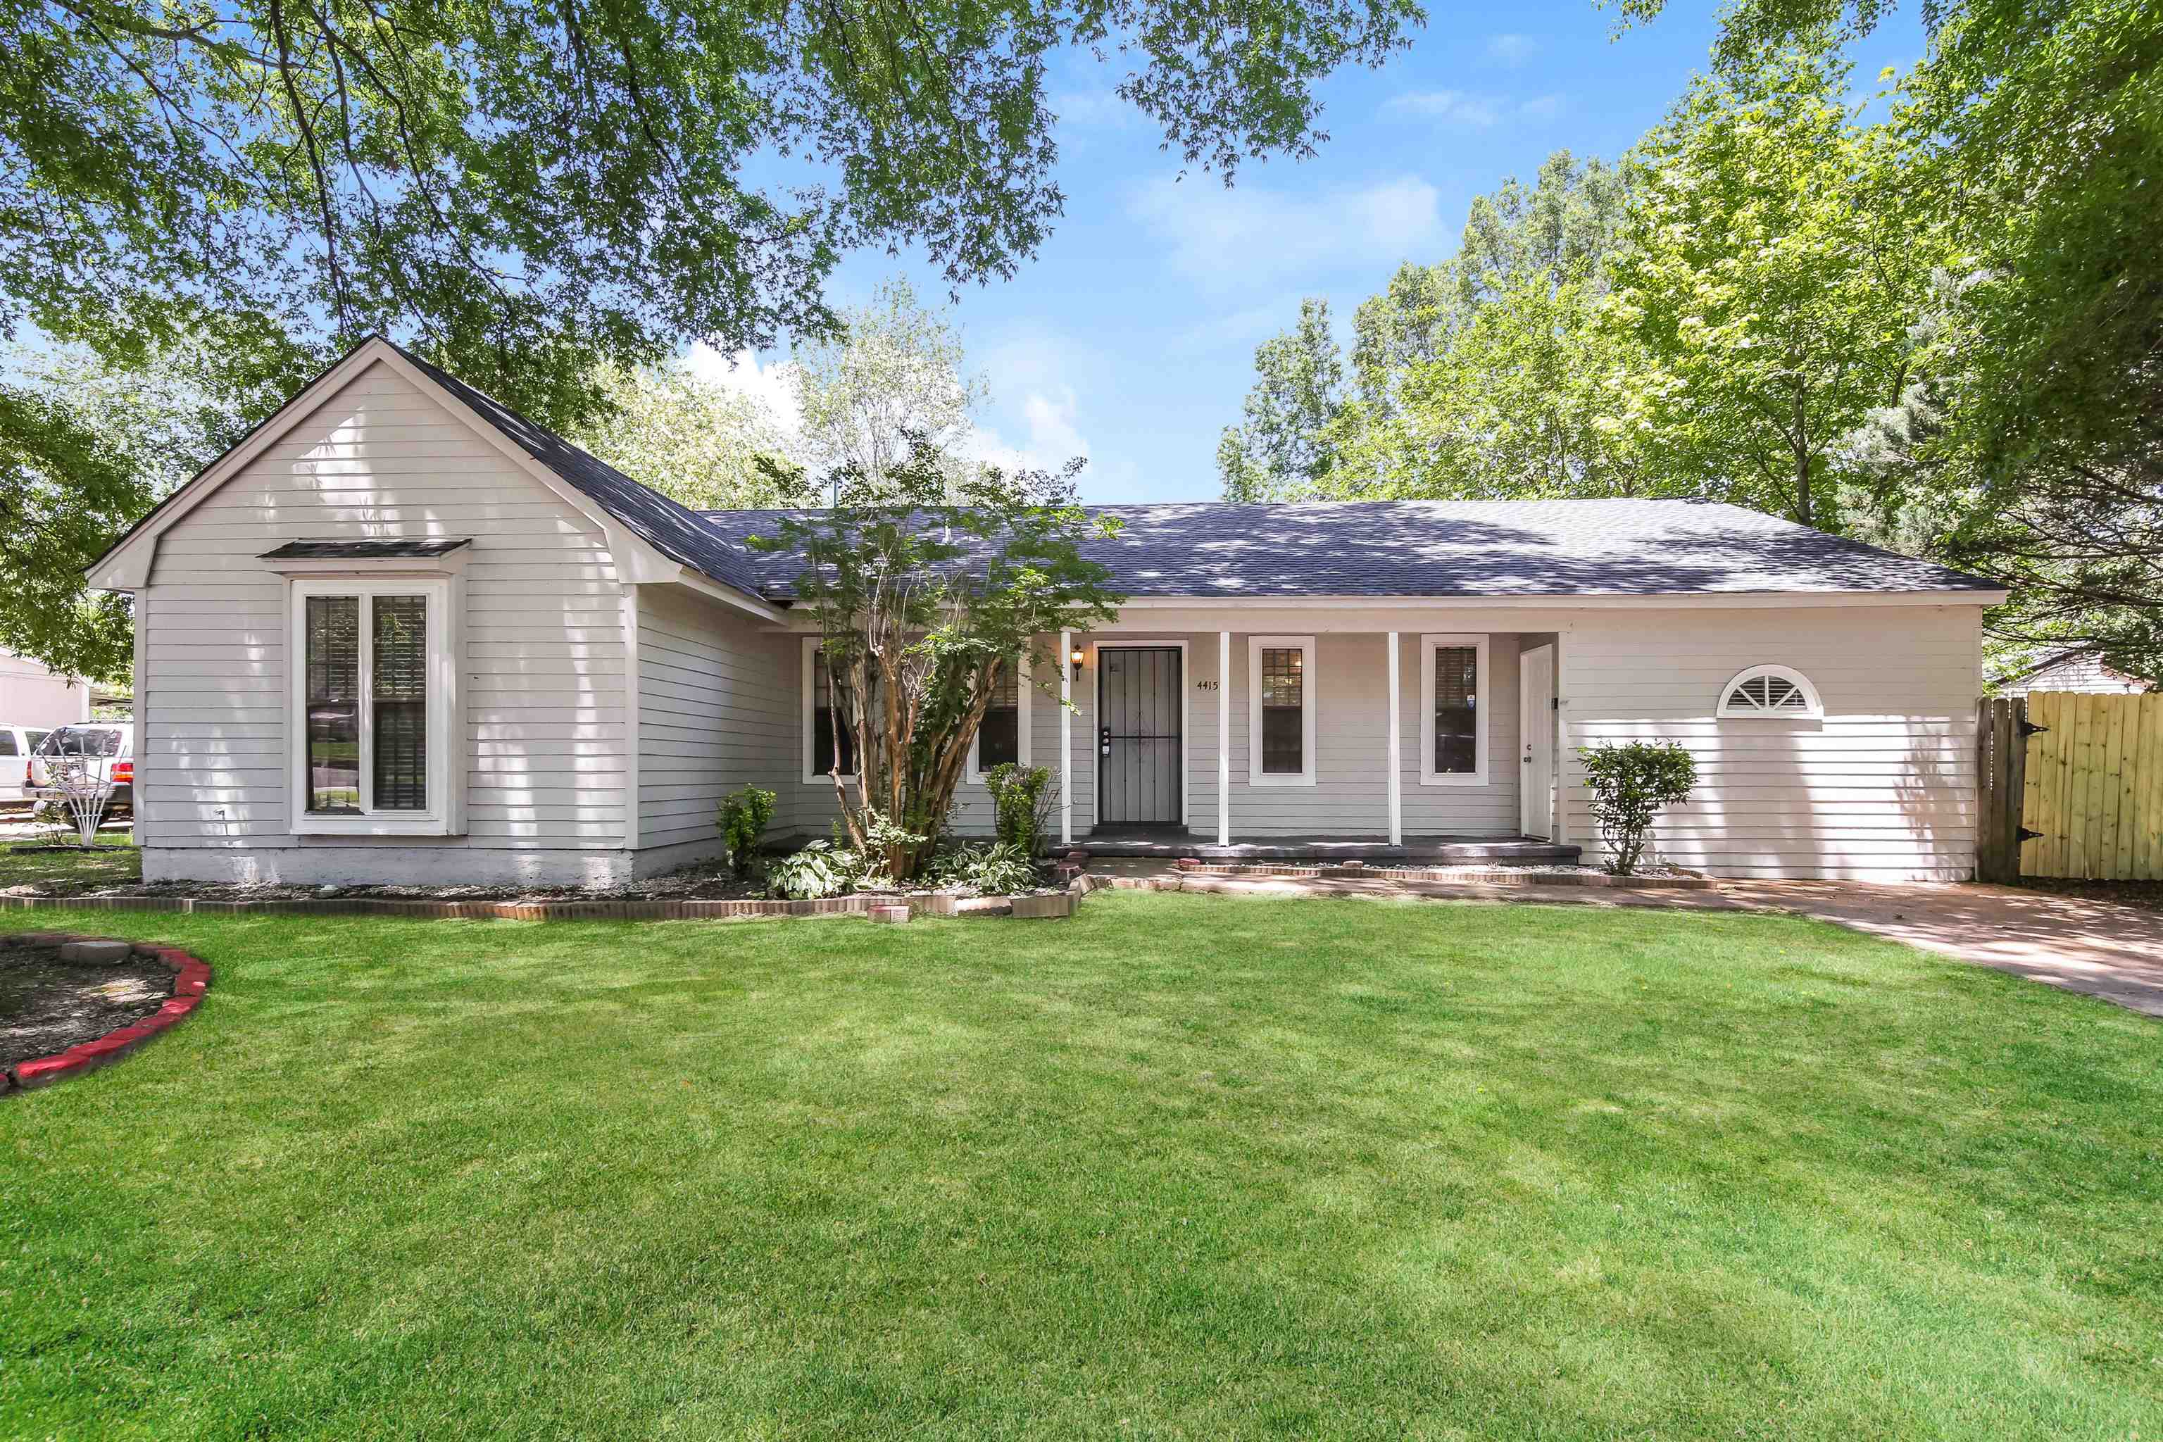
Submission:
[[[1218,432],[1239,417],[1255,346],[1300,296],[1328,296],[1345,329],[1399,262],[1456,251],[1475,195],[1529,179],[1560,147],[1620,156],[1707,65],[1713,15],[1672,2],[1616,37],[1616,13],[1590,0],[1436,9],[1386,67],[1324,86],[1330,141],[1315,160],[1248,162],[1231,190],[1181,179],[1112,95],[1116,56],[1077,56],[1049,86],[1066,216],[1012,281],[954,307],[991,389],[982,448],[1036,465],[1086,454],[1092,502],[1213,499]],[[1912,15],[1895,15],[1856,52],[1858,89],[1919,56]],[[831,294],[852,305],[895,272],[945,296],[930,266],[878,253],[850,257]],[[770,376],[740,368],[735,383]]]

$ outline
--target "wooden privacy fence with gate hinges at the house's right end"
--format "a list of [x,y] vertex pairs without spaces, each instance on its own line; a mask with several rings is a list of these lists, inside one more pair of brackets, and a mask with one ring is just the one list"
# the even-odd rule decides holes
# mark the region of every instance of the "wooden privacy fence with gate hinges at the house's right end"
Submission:
[[1977,761],[1981,880],[2163,880],[2163,692],[1988,698]]

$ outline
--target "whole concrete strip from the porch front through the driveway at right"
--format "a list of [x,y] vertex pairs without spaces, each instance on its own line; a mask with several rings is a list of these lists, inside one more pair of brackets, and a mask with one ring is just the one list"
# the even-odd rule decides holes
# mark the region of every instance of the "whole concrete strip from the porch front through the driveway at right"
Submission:
[[1782,910],[2163,1018],[2163,912],[1964,882],[1720,882],[1717,891],[1205,876],[1164,860],[1092,860],[1114,884],[1261,897],[1436,897],[1672,910]]

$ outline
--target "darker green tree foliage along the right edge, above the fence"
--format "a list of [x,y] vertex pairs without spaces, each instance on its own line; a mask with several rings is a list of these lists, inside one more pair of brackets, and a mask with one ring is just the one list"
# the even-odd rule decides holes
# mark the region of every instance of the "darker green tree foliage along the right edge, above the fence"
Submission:
[[[1717,58],[1890,11],[1737,0]],[[2163,9],[1947,0],[1923,24],[1888,203],[1951,259],[1908,318],[1914,378],[1854,437],[1858,523],[2007,582],[2007,668],[2094,651],[2163,683]]]

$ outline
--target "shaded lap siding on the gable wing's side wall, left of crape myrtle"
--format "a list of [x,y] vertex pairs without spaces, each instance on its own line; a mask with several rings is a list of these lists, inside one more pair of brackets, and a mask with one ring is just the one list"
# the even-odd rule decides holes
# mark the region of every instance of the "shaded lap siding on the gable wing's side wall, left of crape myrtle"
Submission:
[[638,845],[718,843],[725,796],[777,796],[777,830],[796,774],[796,638],[699,599],[638,588]]

